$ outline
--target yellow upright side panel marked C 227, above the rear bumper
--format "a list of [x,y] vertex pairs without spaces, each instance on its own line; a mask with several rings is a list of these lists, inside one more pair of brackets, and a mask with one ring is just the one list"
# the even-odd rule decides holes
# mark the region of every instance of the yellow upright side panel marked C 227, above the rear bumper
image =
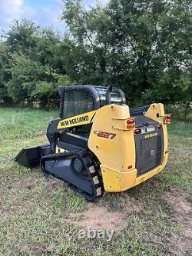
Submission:
[[[127,118],[130,118],[127,105],[106,105],[99,108],[95,114],[88,147],[97,156],[101,165],[112,170],[127,171],[130,165],[132,169],[135,168],[134,132],[124,130],[119,123],[121,120],[123,124]],[[114,120],[118,120],[118,126],[114,126]],[[112,139],[102,138],[94,131],[105,131],[116,136]]]

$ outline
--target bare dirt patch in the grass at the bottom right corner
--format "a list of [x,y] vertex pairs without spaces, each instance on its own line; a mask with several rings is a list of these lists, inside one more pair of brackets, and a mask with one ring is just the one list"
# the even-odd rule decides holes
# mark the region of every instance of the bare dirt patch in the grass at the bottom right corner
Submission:
[[180,256],[192,254],[192,204],[187,201],[188,197],[188,194],[176,189],[164,195],[164,200],[174,209],[174,217],[180,225],[180,232],[171,234],[168,242],[173,254]]

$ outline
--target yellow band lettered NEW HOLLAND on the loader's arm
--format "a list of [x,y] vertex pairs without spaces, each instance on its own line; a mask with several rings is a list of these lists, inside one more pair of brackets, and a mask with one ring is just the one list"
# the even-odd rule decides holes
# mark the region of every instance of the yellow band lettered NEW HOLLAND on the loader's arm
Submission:
[[88,125],[93,121],[96,111],[87,112],[81,115],[75,115],[71,118],[65,118],[58,123],[58,130],[78,125]]

